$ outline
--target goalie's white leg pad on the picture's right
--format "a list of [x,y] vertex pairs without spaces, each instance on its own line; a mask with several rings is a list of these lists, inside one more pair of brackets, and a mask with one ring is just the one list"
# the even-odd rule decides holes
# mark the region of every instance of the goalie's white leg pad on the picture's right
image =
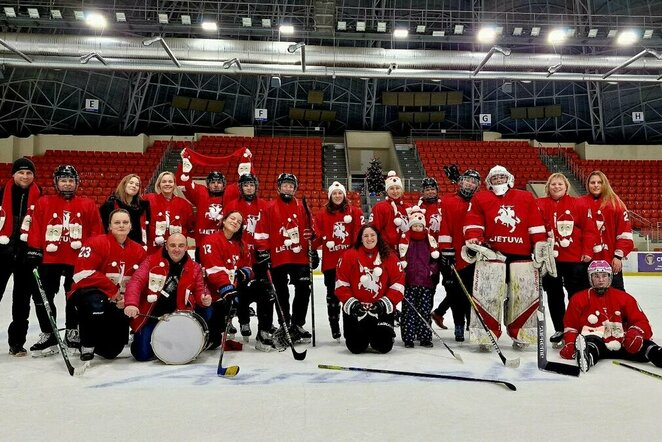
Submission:
[[504,322],[508,336],[535,344],[538,339],[536,311],[540,302],[540,274],[531,261],[510,263],[510,284]]

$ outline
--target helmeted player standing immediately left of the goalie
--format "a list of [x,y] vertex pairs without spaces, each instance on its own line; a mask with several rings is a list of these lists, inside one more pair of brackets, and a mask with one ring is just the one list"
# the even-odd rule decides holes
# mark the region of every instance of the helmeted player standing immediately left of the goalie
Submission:
[[[464,341],[465,319],[469,321],[471,304],[457,281],[452,266],[462,278],[465,288],[471,293],[474,279],[474,263],[466,261],[461,254],[464,246],[464,218],[471,204],[471,198],[480,188],[480,174],[474,169],[467,169],[457,177],[457,193],[445,195],[441,199],[441,234],[439,264],[444,276],[446,297],[432,312],[432,319],[437,325],[443,325],[443,317],[450,307],[455,324],[455,340]],[[441,321],[439,321],[441,319]]]

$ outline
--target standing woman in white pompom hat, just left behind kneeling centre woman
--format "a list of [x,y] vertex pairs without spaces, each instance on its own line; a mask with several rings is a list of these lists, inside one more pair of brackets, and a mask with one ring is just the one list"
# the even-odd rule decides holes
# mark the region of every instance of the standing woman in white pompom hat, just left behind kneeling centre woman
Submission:
[[340,339],[340,302],[336,297],[336,264],[345,251],[354,245],[359,229],[365,222],[363,212],[347,200],[347,190],[334,181],[328,190],[328,201],[315,215],[313,247],[322,248],[322,273],[326,286],[326,310],[331,337]]

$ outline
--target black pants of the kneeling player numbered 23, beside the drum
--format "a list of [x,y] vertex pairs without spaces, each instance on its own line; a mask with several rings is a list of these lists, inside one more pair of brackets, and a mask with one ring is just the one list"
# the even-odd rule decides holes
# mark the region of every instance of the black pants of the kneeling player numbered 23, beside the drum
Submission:
[[81,289],[71,295],[69,304],[80,318],[81,347],[94,347],[106,359],[119,355],[129,338],[129,318],[97,289]]

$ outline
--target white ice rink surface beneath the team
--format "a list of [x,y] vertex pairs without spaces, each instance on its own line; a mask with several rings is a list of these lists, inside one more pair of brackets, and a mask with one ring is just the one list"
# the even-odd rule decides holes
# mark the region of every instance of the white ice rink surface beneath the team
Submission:
[[[662,333],[662,279],[626,276],[625,286]],[[0,303],[0,439],[4,441],[531,441],[660,440],[657,401],[662,380],[602,360],[579,378],[542,372],[536,349],[515,351],[502,336],[496,353],[458,344],[437,330],[464,362],[435,338],[432,349],[405,349],[396,329],[393,351],[352,355],[331,339],[321,275],[315,276],[317,346],[304,361],[289,349],[262,353],[254,336],[243,351],[226,352],[239,365],[234,378],[216,375],[219,351],[184,366],[138,363],[128,349],[107,361],[96,356],[82,377],[70,377],[60,355],[8,355],[11,281]],[[443,297],[441,285],[435,305]],[[63,314],[64,296],[56,297]],[[64,318],[59,318],[60,327]],[[252,329],[257,328],[255,318]],[[235,320],[236,324],[236,320]],[[551,328],[548,321],[548,333]],[[310,329],[310,324],[306,326]],[[436,329],[436,326],[435,326]],[[31,313],[26,348],[38,339]],[[241,339],[238,337],[237,339]],[[656,339],[656,336],[653,337]],[[662,338],[658,338],[662,343]],[[548,358],[561,361],[548,346]],[[76,366],[82,365],[76,354]],[[567,362],[567,361],[566,361]],[[517,386],[376,373],[321,370],[318,364],[502,379]],[[632,365],[662,375],[652,364]]]

